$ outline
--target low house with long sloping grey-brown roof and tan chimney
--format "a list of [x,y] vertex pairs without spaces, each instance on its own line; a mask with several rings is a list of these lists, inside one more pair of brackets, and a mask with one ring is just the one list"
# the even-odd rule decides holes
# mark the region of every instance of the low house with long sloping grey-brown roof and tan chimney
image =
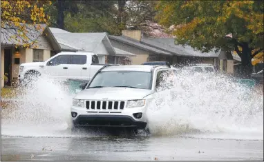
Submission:
[[[174,39],[142,37],[140,30],[123,30],[121,36],[109,35],[114,47],[136,54],[132,64],[146,61],[169,61],[169,63],[182,66],[189,63],[211,63],[220,70],[229,74],[234,73],[234,62],[238,58],[226,57],[227,52],[199,52],[189,45],[183,47],[176,45]],[[219,57],[222,56],[222,57]]]

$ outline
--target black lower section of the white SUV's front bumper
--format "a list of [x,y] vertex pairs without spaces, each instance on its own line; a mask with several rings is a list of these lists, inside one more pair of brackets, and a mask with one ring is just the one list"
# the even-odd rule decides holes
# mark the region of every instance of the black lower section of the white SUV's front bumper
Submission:
[[93,115],[81,114],[73,120],[75,127],[117,127],[117,128],[146,128],[147,123],[136,121],[126,115]]

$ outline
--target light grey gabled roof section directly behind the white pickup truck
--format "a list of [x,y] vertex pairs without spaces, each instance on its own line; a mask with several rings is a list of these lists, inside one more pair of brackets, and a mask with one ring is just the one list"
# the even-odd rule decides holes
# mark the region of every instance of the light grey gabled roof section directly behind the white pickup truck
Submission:
[[63,51],[92,52],[98,54],[100,63],[122,63],[135,54],[113,48],[105,32],[73,33],[50,28]]

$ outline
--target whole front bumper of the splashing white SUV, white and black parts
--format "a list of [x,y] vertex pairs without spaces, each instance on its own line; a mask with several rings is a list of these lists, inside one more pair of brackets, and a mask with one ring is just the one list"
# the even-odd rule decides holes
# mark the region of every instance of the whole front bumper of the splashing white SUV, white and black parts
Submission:
[[[147,125],[147,105],[139,108],[124,108],[124,110],[88,110],[71,107],[74,126],[85,127],[131,127],[144,129]],[[77,115],[73,116],[73,113]],[[141,114],[141,117],[135,117]]]

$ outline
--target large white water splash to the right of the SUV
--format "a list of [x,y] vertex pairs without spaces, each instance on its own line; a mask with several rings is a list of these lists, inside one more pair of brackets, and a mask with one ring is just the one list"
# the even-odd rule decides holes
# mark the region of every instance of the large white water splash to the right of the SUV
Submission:
[[152,134],[258,133],[263,139],[263,92],[224,75],[179,73],[175,88],[158,92],[147,112]]

